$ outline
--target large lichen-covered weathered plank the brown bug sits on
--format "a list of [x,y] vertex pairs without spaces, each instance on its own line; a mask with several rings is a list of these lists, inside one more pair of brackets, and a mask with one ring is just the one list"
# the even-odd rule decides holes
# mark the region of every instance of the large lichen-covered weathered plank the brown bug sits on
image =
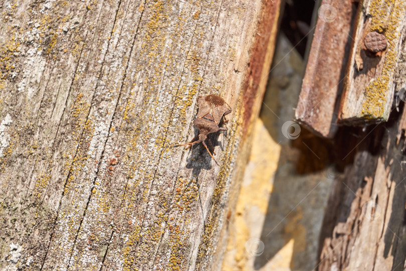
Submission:
[[[219,268],[279,1],[1,5],[0,269]],[[169,148],[210,92],[220,167]]]

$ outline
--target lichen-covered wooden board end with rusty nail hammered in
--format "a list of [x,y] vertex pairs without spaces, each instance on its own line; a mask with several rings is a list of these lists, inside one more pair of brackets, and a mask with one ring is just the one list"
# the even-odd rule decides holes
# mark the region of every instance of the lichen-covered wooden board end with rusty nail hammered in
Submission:
[[[402,0],[364,0],[354,31],[338,121],[363,125],[386,121],[393,101],[394,70],[399,59],[406,6]],[[372,53],[365,45],[368,33],[384,35],[386,48]]]

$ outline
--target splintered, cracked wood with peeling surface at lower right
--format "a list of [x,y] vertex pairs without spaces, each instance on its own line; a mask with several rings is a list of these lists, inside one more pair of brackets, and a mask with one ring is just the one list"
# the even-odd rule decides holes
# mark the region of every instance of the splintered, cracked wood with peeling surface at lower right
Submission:
[[359,130],[355,142],[344,133],[347,166],[333,184],[318,270],[404,269],[406,106],[401,106],[403,113],[393,114],[387,123]]

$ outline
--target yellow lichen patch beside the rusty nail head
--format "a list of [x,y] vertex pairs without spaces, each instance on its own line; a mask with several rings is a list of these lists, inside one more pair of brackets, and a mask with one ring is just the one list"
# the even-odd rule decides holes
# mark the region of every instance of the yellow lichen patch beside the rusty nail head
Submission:
[[[383,7],[382,7],[383,5]],[[404,18],[405,6],[401,0],[373,0],[369,6],[371,17],[370,31],[385,35],[387,49],[382,73],[365,88],[361,115],[366,119],[387,119],[389,112],[385,105],[391,98],[389,86],[392,84],[394,68],[398,57],[400,21]],[[390,11],[387,14],[387,11]],[[387,18],[388,17],[388,18]]]

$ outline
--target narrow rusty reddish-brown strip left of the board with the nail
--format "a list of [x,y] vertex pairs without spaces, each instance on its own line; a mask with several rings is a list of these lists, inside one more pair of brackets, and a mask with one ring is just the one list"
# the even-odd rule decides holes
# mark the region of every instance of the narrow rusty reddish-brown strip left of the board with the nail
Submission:
[[295,117],[314,133],[332,138],[337,131],[339,96],[352,44],[356,6],[351,0],[323,0],[316,8],[318,20]]

